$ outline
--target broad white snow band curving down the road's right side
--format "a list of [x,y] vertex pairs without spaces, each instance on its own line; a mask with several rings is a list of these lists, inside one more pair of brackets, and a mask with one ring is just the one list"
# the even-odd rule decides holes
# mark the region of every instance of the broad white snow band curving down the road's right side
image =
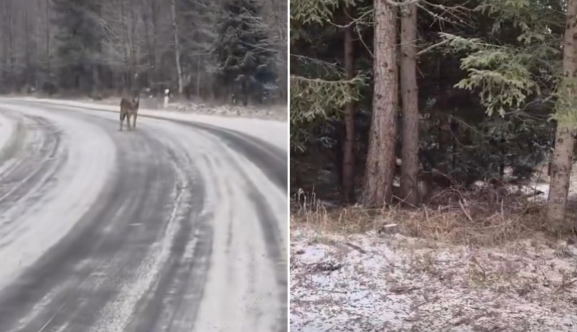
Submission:
[[[201,156],[196,166],[207,181],[205,208],[214,216],[215,234],[207,299],[196,327],[199,331],[286,330],[286,193],[226,140],[189,128],[171,126],[170,133],[180,144],[197,143],[182,148]],[[160,125],[155,129],[163,130],[167,129]],[[255,199],[260,206],[254,205]],[[258,211],[261,208],[265,210]],[[238,318],[243,315],[245,320]]]

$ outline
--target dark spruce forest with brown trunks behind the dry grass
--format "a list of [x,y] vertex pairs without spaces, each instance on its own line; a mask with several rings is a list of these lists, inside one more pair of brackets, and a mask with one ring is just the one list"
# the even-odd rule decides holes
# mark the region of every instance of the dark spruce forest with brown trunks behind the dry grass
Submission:
[[[575,6],[291,0],[290,185],[298,203],[452,204],[465,222],[484,214],[479,228],[510,212],[539,229],[571,230]],[[530,200],[539,192],[510,190],[536,173],[549,184],[542,205]]]

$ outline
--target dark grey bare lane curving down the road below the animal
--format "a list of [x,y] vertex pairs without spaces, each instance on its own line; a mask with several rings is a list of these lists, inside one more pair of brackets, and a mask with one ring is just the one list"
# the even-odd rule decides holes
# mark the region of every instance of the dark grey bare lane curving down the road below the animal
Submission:
[[[111,121],[100,122],[103,122],[102,126],[111,125]],[[68,331],[87,331],[89,327],[122,331],[132,318],[132,307],[140,299],[139,294],[147,292],[149,285],[142,285],[142,282],[151,282],[151,274],[161,270],[151,260],[158,262],[158,251],[162,247],[159,244],[172,240],[163,238],[167,228],[171,227],[174,233],[171,224],[175,220],[165,218],[178,205],[172,202],[177,189],[174,184],[178,184],[174,181],[174,161],[158,141],[138,132],[111,130],[111,134],[121,137],[116,140],[117,164],[126,167],[118,167],[110,190],[97,200],[99,204],[78,223],[75,232],[70,233],[58,248],[48,252],[43,264],[37,264],[36,271],[28,274],[26,285],[10,292],[12,299],[5,303],[17,303],[18,297],[31,285],[40,297],[59,282],[70,279],[76,282],[38,312],[29,312],[29,305],[21,305],[20,312],[25,314],[19,315],[14,313],[18,311],[14,308],[17,306],[13,306],[10,316],[28,315],[21,319],[27,323],[16,326],[16,330],[66,326]],[[195,185],[194,189],[200,189],[198,196],[203,196],[200,185]],[[191,210],[189,205],[185,208]],[[181,212],[182,206],[176,210]],[[87,243],[89,239],[95,241]],[[163,256],[166,257],[166,244],[160,249],[165,251]],[[114,317],[104,313],[110,310],[114,311]]]

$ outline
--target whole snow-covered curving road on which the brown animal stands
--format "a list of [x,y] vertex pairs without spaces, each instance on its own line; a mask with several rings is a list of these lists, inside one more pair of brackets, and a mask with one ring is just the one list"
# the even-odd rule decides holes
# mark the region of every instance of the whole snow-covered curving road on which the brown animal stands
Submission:
[[118,125],[0,99],[0,332],[286,331],[287,124]]

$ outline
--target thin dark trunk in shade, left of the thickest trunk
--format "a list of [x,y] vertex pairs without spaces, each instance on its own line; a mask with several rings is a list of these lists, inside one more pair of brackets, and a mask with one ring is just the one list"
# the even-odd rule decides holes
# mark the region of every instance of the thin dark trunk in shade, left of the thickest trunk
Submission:
[[[349,17],[346,15],[346,17]],[[351,24],[350,18],[347,20]],[[354,67],[354,43],[353,43],[353,25],[344,29],[344,70],[347,73],[347,79],[352,80],[355,77]],[[350,102],[344,106],[344,144],[343,144],[343,200],[350,203],[354,199],[355,184],[355,103]]]

